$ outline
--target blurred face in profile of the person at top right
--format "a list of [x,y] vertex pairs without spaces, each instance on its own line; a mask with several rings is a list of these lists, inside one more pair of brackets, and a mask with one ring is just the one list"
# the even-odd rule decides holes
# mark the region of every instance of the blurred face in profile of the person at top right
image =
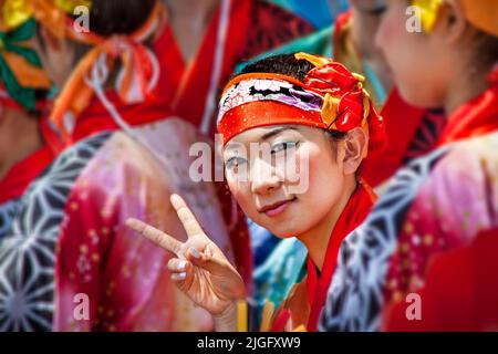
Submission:
[[[424,107],[440,107],[452,80],[468,66],[463,48],[469,40],[466,21],[455,1],[442,7],[430,34],[413,32],[414,12],[407,12],[411,1],[388,0],[376,35],[395,84],[409,103]],[[412,31],[412,32],[411,32]],[[468,43],[467,43],[468,45]]]

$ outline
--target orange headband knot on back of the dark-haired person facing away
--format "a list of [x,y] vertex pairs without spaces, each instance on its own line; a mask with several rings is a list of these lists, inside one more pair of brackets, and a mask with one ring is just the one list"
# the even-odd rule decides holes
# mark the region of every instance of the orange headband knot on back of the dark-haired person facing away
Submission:
[[71,112],[77,118],[95,93],[91,77],[104,75],[106,79],[117,59],[121,59],[123,65],[116,80],[116,91],[121,100],[136,104],[144,102],[152,93],[159,69],[154,54],[143,42],[163,23],[165,12],[160,1],[156,2],[147,21],[135,33],[110,38],[100,37],[91,31],[76,31],[68,12],[55,6],[55,0],[31,1],[40,4],[33,7],[35,19],[54,35],[93,45],[66,81],[50,117],[64,134],[68,134],[68,127],[64,126],[65,114]]

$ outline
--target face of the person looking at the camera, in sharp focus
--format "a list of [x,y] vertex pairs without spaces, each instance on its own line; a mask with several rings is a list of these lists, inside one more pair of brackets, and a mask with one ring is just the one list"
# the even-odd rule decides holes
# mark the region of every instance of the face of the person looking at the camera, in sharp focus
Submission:
[[[278,237],[295,237],[334,212],[346,185],[355,184],[366,143],[361,128],[341,139],[307,126],[252,128],[224,149],[228,185],[255,222]],[[267,148],[268,156],[255,148]]]

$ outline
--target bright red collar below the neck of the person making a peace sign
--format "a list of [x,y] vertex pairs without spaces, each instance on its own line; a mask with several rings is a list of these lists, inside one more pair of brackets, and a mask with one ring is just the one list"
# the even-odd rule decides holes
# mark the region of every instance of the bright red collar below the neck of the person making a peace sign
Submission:
[[335,270],[339,248],[343,239],[369,215],[375,196],[371,188],[360,183],[342,211],[329,239],[322,271],[308,257],[308,272],[295,284],[277,312],[272,331],[292,331],[304,325],[308,331],[317,331],[319,315],[325,303],[326,291]]

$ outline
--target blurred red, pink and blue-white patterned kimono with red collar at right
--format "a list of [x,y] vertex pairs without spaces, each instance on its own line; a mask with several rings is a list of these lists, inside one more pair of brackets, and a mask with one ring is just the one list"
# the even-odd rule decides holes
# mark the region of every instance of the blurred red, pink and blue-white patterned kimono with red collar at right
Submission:
[[[448,118],[438,147],[401,169],[344,240],[322,330],[496,329],[497,150],[495,71],[490,87]],[[444,298],[450,290],[455,298]],[[421,321],[402,319],[408,294],[422,296]]]

